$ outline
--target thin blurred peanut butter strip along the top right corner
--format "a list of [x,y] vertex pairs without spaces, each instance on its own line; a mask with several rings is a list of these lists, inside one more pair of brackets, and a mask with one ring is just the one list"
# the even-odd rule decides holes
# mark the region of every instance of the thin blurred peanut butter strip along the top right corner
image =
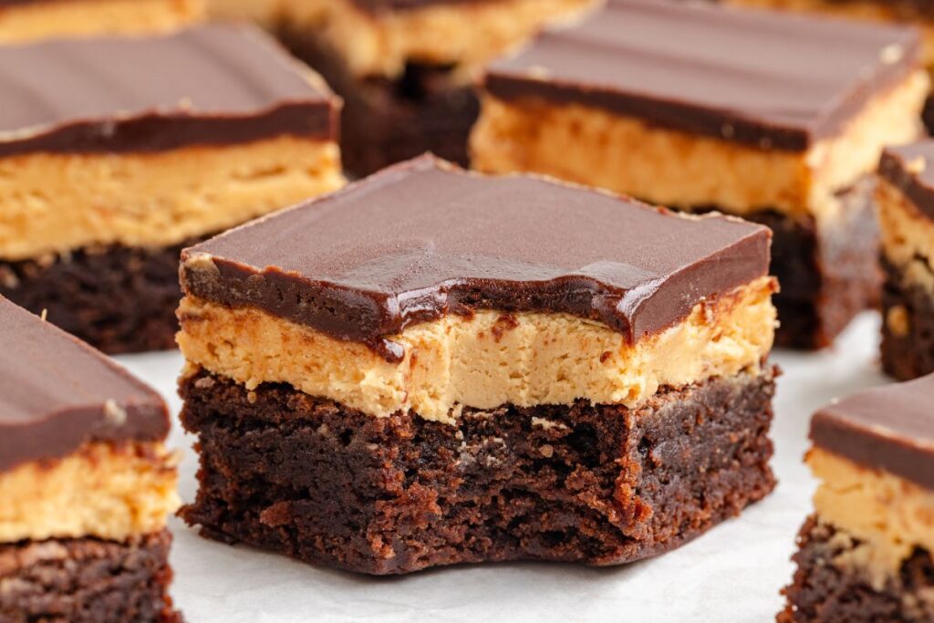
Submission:
[[[823,13],[832,17],[849,18],[860,21],[904,21],[905,14],[899,7],[887,0],[847,0],[846,2],[827,2],[827,0],[726,0],[738,7],[781,8],[786,10]],[[924,60],[928,67],[934,68],[934,21],[921,15],[913,15],[911,23],[920,28],[924,35]]]

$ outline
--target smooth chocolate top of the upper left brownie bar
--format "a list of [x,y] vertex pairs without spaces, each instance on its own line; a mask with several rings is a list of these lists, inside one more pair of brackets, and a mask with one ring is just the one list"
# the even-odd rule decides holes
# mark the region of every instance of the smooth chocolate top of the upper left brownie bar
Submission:
[[331,138],[333,98],[247,26],[0,49],[0,156]]

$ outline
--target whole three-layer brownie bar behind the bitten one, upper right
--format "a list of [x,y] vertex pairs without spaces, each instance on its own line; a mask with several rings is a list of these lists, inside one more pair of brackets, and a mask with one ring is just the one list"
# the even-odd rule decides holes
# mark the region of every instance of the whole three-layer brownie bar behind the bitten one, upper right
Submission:
[[878,299],[871,174],[927,83],[906,29],[612,0],[492,64],[473,164],[770,226],[778,344],[824,347]]

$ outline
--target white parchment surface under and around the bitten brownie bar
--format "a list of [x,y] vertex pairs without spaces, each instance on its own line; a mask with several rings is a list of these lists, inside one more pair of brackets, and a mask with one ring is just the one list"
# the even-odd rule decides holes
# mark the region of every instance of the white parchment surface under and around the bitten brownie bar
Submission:
[[[189,623],[392,621],[774,620],[791,578],[789,557],[811,512],[814,482],[801,457],[808,421],[831,399],[886,382],[878,371],[878,319],[867,314],[826,352],[773,356],[779,378],[769,498],[691,544],[656,559],[612,569],[547,563],[460,566],[371,578],[307,566],[246,546],[206,541],[176,518],[173,595]],[[121,357],[163,392],[177,413],[177,353]],[[181,496],[195,492],[193,438],[176,422],[184,448]]]

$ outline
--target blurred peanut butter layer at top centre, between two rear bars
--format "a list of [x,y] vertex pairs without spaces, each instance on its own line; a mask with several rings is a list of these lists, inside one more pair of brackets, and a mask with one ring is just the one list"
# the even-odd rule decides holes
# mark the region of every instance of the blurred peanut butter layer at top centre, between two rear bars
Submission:
[[279,10],[291,26],[318,32],[352,74],[396,78],[407,63],[478,68],[600,2],[476,0],[372,12],[353,0],[282,0]]

